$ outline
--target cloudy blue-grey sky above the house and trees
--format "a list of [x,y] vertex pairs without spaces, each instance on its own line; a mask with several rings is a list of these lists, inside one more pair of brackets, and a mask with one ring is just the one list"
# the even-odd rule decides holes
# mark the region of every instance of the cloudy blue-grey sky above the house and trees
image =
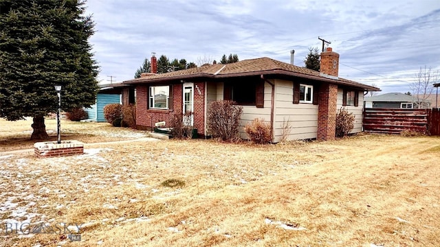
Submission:
[[340,54],[339,75],[382,93],[409,91],[420,67],[440,69],[440,1],[88,0],[98,80],[130,80],[155,51],[170,60],[264,56],[303,67],[318,36]]

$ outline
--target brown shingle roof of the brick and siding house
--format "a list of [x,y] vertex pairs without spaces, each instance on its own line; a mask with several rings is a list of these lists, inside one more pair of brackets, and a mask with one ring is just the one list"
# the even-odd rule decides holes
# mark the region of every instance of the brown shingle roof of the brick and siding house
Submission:
[[307,78],[335,84],[343,84],[364,89],[365,91],[380,91],[380,89],[353,82],[344,78],[331,79],[322,77],[318,71],[298,67],[272,58],[255,58],[234,62],[231,64],[212,64],[202,67],[172,71],[168,73],[150,75],[125,81],[124,84],[143,84],[149,82],[164,82],[166,80],[183,80],[188,78],[232,78],[244,75],[289,75],[298,78]]

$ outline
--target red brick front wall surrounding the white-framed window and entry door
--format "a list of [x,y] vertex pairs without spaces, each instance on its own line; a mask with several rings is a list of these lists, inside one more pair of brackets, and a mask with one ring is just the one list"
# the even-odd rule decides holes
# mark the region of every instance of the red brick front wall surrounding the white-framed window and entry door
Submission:
[[[199,90],[197,90],[197,87]],[[170,127],[173,114],[181,113],[183,108],[183,86],[173,85],[173,110],[147,109],[148,86],[136,87],[136,125],[141,130],[151,130],[154,124],[165,121],[166,127]],[[200,91],[200,94],[199,94]],[[205,83],[195,82],[194,84],[194,128],[201,135],[204,134],[205,126]]]

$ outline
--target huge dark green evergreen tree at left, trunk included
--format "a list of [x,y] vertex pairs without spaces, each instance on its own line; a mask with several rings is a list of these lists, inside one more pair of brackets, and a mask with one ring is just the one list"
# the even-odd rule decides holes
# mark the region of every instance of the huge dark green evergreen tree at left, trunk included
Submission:
[[44,116],[89,107],[98,92],[94,34],[82,0],[0,1],[0,117],[33,117],[31,139],[47,139]]

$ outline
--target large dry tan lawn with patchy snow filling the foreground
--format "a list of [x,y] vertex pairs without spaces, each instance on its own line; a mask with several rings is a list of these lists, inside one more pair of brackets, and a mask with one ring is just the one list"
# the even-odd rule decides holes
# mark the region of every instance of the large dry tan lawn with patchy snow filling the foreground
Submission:
[[[440,138],[105,145],[0,157],[4,246],[440,246]],[[4,226],[3,226],[4,230]]]

